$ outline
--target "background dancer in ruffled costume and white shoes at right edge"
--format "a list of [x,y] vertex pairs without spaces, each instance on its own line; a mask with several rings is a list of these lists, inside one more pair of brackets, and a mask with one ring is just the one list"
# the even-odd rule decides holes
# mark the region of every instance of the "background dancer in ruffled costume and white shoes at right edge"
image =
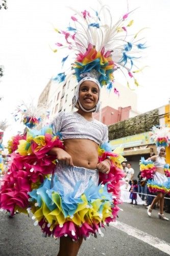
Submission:
[[169,146],[170,129],[169,127],[153,126],[151,138],[157,146],[157,155],[147,160],[141,158],[140,169],[141,175],[148,179],[147,186],[151,193],[156,193],[151,205],[148,206],[148,216],[151,217],[154,205],[159,201],[158,217],[162,220],[169,219],[163,215],[164,196],[170,195],[170,172],[169,164],[165,162],[165,147]]

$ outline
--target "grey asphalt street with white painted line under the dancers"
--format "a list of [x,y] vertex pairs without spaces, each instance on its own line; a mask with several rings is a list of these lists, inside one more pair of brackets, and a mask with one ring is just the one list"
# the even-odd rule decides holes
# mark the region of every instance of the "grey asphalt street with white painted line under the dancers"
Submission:
[[[114,224],[114,226],[106,227],[106,231],[103,229],[103,238],[98,236],[95,239],[90,236],[83,242],[79,255],[170,255],[170,221],[158,219],[157,209],[153,210],[152,218],[149,218],[144,206],[124,203],[121,208],[124,211],[119,211],[119,227],[116,228],[116,224]],[[170,218],[169,214],[166,215]],[[40,228],[35,227],[33,220],[27,215],[17,214],[10,219],[5,211],[1,211],[0,220],[1,256],[57,255],[59,240],[42,237]],[[163,244],[163,249],[158,249],[158,244]]]

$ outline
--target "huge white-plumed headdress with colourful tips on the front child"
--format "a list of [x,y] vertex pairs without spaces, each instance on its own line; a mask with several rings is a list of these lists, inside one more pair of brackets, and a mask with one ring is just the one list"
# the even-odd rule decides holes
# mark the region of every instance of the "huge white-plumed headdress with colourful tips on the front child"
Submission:
[[[58,49],[67,48],[74,53],[71,69],[77,81],[80,82],[86,76],[92,77],[100,82],[101,87],[107,86],[111,90],[114,87],[113,73],[120,71],[127,78],[128,86],[131,78],[138,86],[134,74],[142,69],[137,68],[136,60],[141,58],[141,52],[146,46],[141,42],[143,38],[137,38],[142,30],[134,35],[128,34],[129,27],[133,24],[133,19],[128,20],[132,12],[113,23],[106,5],[101,4],[99,12],[73,11],[76,14],[71,16],[67,29],[55,31],[62,37],[61,41],[56,42]],[[62,59],[62,66],[68,56],[69,54]],[[65,72],[62,72],[53,79],[61,82],[65,78]]]

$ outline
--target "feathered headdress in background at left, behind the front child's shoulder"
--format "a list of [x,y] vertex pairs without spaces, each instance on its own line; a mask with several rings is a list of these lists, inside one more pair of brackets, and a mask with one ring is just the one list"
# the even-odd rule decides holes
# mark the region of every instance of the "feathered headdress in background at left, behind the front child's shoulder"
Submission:
[[42,122],[43,119],[46,119],[49,115],[49,112],[46,110],[44,105],[41,105],[37,108],[32,102],[27,105],[26,103],[22,103],[17,106],[17,109],[14,113],[12,113],[15,121],[20,119],[27,127],[32,129]]

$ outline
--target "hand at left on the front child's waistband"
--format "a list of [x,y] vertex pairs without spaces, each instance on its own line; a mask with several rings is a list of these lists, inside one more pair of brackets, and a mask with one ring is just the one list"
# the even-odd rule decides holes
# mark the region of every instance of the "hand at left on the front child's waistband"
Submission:
[[74,164],[72,163],[72,157],[65,150],[62,150],[62,148],[56,147],[55,153],[57,156],[57,160],[59,160],[62,165],[74,166]]

